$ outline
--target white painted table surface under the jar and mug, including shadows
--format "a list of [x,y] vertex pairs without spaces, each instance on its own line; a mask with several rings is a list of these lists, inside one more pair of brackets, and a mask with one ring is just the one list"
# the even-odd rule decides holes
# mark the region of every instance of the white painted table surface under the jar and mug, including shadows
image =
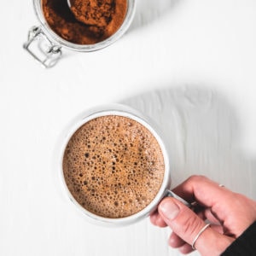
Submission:
[[[256,1],[137,0],[130,30],[93,53],[64,50],[44,69],[22,49],[32,1],[6,1],[0,48],[0,255],[166,256],[168,229],[87,223],[53,162],[74,116],[123,102],[170,144],[172,187],[192,174],[256,199]],[[195,253],[197,254],[197,253]]]

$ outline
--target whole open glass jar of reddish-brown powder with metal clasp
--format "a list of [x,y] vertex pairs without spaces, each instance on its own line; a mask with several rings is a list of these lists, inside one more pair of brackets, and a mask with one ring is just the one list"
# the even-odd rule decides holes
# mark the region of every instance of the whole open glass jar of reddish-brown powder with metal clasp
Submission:
[[[127,31],[136,0],[33,0],[40,26],[24,48],[44,67],[53,67],[61,48],[83,52],[113,44]],[[36,40],[37,39],[37,40]]]

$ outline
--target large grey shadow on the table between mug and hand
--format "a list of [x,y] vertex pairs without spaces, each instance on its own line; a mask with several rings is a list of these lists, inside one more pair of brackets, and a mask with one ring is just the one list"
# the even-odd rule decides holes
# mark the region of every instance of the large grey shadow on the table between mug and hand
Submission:
[[201,174],[256,197],[256,163],[239,148],[240,125],[224,96],[184,86],[148,91],[121,103],[160,125],[170,151],[172,187],[192,174]]

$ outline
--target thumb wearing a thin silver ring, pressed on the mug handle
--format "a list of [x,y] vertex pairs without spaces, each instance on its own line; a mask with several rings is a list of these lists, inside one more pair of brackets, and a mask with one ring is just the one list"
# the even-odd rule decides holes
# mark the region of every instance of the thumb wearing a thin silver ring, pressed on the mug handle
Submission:
[[[158,211],[161,218],[164,219],[172,231],[190,245],[192,245],[195,237],[206,226],[206,223],[199,218],[195,212],[172,197],[166,197],[161,201]],[[202,255],[207,255],[207,253],[209,253],[209,248],[211,248],[212,245],[214,247],[217,244],[221,244],[219,242],[220,240],[223,241],[225,239],[215,230],[207,228],[196,240],[195,247]],[[215,247],[214,251],[218,251],[220,254],[224,251],[224,248]]]

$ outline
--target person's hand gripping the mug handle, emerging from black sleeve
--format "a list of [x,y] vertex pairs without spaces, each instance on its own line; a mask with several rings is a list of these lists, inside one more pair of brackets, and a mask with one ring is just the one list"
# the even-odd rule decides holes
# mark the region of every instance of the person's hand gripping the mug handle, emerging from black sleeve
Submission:
[[172,229],[169,245],[181,253],[193,251],[191,245],[206,226],[206,220],[211,226],[195,241],[202,256],[220,255],[256,221],[255,201],[221,187],[207,177],[189,177],[172,191],[186,201],[196,202],[194,211],[180,201],[166,197],[150,220],[154,225]]

